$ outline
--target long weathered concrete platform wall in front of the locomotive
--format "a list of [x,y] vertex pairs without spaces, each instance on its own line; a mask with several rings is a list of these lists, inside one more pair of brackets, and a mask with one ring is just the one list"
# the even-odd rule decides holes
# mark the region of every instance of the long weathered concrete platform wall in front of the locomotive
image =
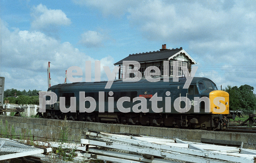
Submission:
[[[9,128],[14,126],[16,133],[33,134],[39,137],[58,138],[63,127],[63,120],[49,120],[42,118],[27,118],[0,115],[3,125],[5,120]],[[160,128],[146,126],[131,126],[122,124],[106,124],[81,121],[67,121],[69,123],[68,136],[72,140],[84,138],[83,131],[95,130],[116,133],[141,134],[168,138],[180,138],[186,141],[200,142],[201,138],[216,140],[234,140],[244,142],[244,148],[256,149],[255,133],[219,132],[204,130],[187,130],[176,128]],[[2,126],[2,130],[3,130]],[[50,140],[48,140],[50,141]]]

